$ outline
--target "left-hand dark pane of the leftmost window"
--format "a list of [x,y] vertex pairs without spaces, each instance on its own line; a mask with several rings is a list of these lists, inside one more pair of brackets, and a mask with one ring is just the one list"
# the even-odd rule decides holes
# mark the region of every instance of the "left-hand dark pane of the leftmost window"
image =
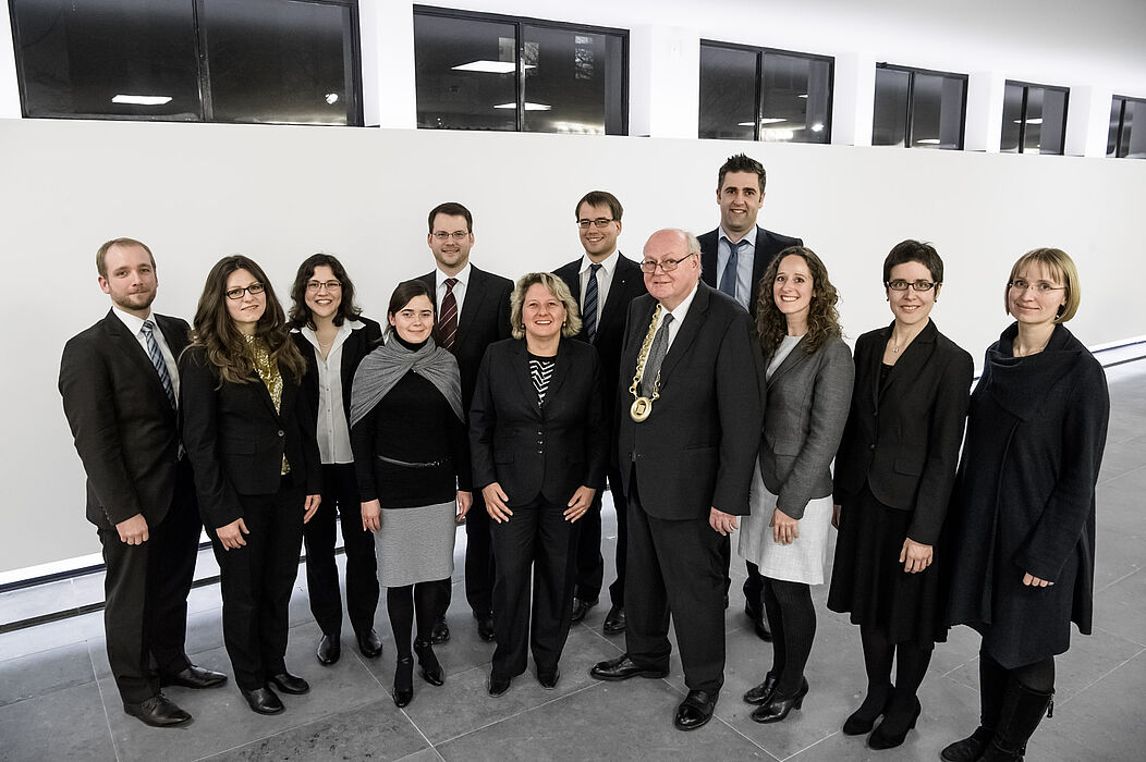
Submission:
[[30,117],[202,119],[189,0],[15,0]]

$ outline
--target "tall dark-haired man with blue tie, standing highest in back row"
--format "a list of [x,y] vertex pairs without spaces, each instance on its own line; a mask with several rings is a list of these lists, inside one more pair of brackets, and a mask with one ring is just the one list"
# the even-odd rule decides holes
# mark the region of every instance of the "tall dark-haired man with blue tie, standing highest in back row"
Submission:
[[[730,156],[716,179],[716,203],[720,227],[700,236],[700,264],[705,283],[720,289],[756,319],[760,301],[760,278],[772,258],[788,246],[802,246],[803,241],[756,226],[756,215],[764,203],[763,165],[744,154]],[[769,291],[764,291],[769,296]],[[731,544],[725,556],[731,561]],[[746,561],[748,578],[744,581],[744,613],[752,620],[756,635],[771,639],[764,621],[761,595],[764,590],[760,569]],[[728,579],[725,576],[725,579]],[[728,587],[728,583],[725,583]]]

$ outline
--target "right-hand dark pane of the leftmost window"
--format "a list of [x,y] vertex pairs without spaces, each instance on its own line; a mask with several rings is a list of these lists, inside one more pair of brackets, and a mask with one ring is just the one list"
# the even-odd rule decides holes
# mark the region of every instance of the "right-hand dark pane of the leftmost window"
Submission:
[[203,10],[214,120],[358,120],[350,8],[204,0]]

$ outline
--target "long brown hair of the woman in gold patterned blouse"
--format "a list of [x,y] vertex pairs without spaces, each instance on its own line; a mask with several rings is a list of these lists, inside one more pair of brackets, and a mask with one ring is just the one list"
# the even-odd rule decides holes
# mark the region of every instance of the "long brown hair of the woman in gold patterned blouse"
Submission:
[[286,332],[286,315],[275,297],[270,280],[262,268],[248,257],[233,254],[223,257],[207,274],[195,311],[191,330],[191,346],[203,347],[207,362],[219,369],[222,380],[245,384],[254,380],[254,362],[246,348],[246,339],[227,314],[227,278],[235,270],[246,270],[262,284],[267,308],[254,328],[254,335],[262,340],[270,353],[270,360],[278,364],[280,372],[289,371],[296,379],[306,371],[306,361]]

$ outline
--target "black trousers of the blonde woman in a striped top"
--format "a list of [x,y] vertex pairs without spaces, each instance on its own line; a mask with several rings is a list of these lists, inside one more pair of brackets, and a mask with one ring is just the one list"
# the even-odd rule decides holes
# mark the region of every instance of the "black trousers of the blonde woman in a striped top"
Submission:
[[562,657],[573,618],[570,598],[580,524],[566,521],[565,509],[539,496],[528,505],[512,509],[509,521],[489,523],[497,556],[494,578],[497,649],[490,671],[499,677],[524,673],[531,650],[534,666],[543,671],[557,667]]

